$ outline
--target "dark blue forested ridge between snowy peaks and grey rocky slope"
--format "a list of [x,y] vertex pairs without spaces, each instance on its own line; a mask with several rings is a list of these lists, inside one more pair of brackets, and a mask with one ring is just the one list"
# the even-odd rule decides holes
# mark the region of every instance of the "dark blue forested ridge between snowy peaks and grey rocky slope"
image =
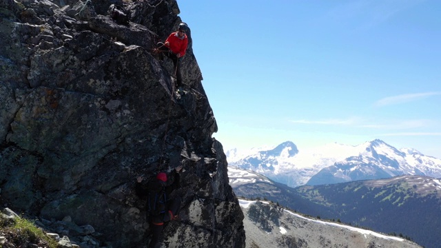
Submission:
[[238,197],[271,200],[302,214],[402,234],[427,248],[441,247],[440,179],[395,176],[291,188],[244,169],[229,167],[228,175]]

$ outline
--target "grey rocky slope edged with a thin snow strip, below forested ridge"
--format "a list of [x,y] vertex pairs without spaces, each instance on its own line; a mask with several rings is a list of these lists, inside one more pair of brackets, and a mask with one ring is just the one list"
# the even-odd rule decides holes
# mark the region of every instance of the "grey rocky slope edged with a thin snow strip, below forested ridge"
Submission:
[[241,200],[247,248],[367,247],[421,248],[396,236],[387,236],[341,223],[307,218],[274,203]]

